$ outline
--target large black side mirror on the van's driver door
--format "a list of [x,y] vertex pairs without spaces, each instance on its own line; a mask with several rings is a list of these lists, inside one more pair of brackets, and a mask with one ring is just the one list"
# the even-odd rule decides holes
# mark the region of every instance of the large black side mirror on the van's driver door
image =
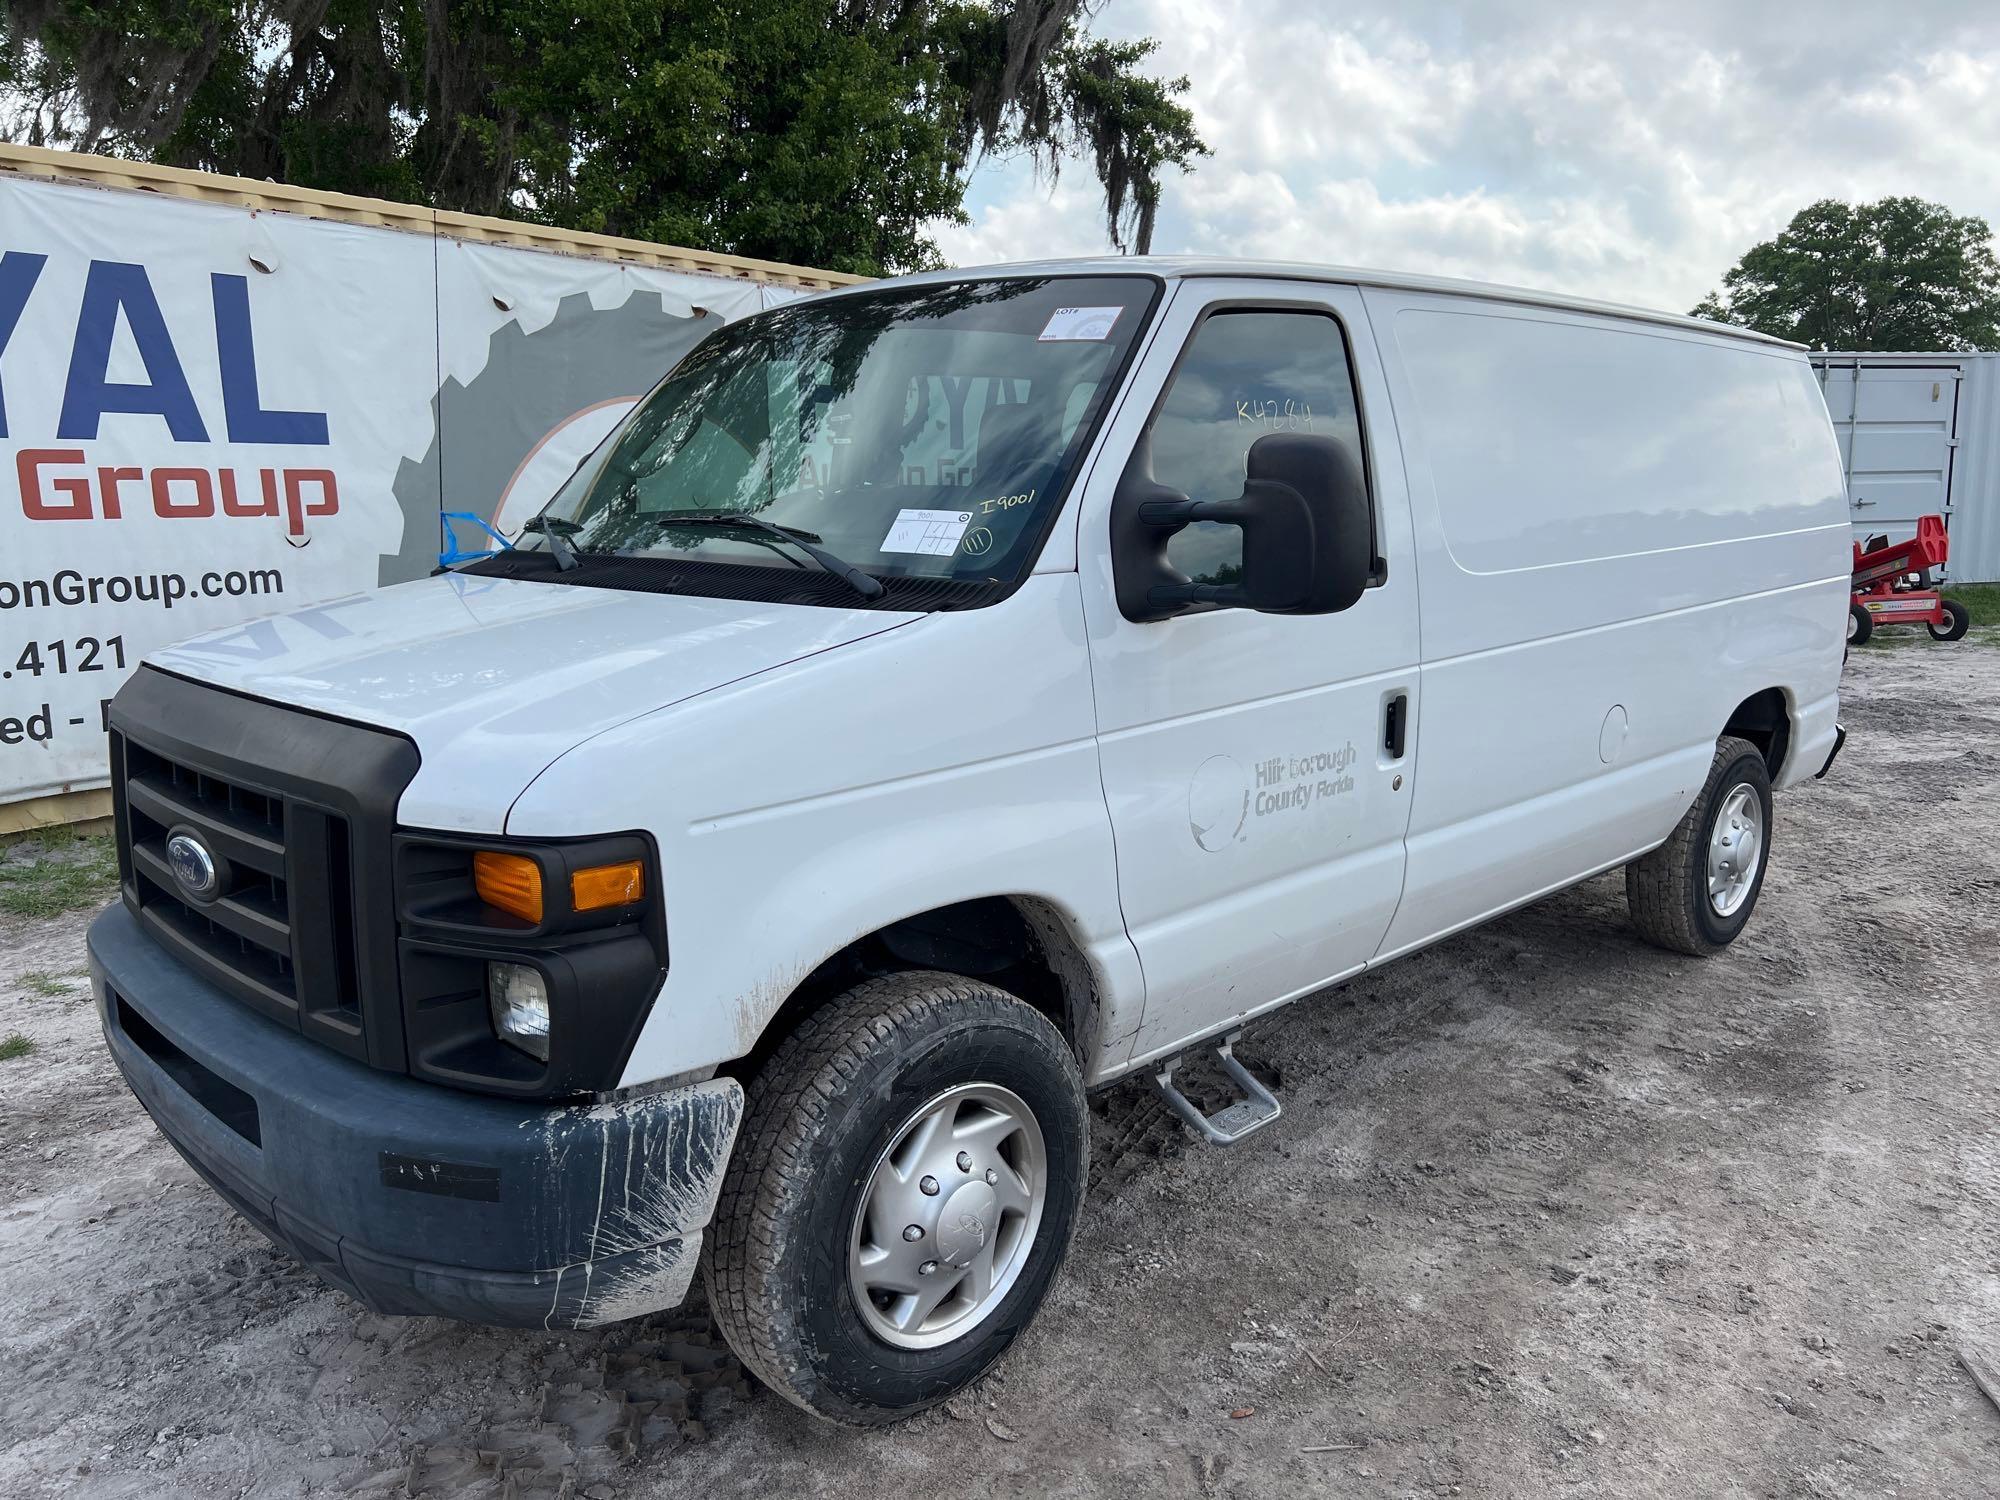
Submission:
[[[1166,560],[1174,532],[1198,520],[1242,530],[1242,582],[1196,584]],[[1112,578],[1126,620],[1168,620],[1194,604],[1334,614],[1362,596],[1372,566],[1368,484],[1338,438],[1266,432],[1250,444],[1234,500],[1190,500],[1158,484],[1142,438],[1112,498]]]

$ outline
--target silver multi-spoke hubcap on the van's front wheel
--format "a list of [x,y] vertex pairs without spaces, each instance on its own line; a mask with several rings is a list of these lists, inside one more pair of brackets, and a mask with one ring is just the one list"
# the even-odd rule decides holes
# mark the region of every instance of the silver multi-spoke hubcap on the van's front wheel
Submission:
[[1048,1152],[1034,1112],[998,1084],[962,1084],[896,1132],[848,1234],[848,1288],[868,1332],[934,1348],[1000,1306],[1034,1248]]

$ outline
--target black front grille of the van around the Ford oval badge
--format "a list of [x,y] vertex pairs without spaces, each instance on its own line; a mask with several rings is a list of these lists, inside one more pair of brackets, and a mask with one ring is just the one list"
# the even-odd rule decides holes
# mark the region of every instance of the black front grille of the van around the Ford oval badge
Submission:
[[[246,1006],[402,1068],[388,848],[414,772],[414,748],[382,730],[140,670],[112,706],[126,904]],[[174,878],[176,832],[216,858],[212,898]]]

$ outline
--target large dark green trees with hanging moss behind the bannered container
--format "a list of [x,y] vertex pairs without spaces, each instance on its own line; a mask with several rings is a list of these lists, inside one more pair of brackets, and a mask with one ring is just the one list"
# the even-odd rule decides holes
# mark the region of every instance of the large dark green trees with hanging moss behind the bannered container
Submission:
[[[0,0],[8,4],[8,0]],[[1088,158],[1118,248],[1208,148],[1088,0],[12,0],[0,134],[864,274]]]

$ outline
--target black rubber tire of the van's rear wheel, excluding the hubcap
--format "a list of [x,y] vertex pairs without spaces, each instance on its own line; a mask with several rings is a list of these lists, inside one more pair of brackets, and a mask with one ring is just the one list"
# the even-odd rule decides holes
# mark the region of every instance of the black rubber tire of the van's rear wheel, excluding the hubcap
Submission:
[[[1738,786],[1750,786],[1762,808],[1764,830],[1758,848],[1756,874],[1742,904],[1728,916],[1716,912],[1708,900],[1708,842],[1714,832],[1716,814]],[[1770,816],[1770,770],[1764,766],[1764,752],[1748,740],[1722,736],[1716,740],[1716,756],[1708,764],[1708,780],[1702,784],[1694,806],[1682,814],[1672,836],[1626,866],[1626,904],[1632,908],[1632,926],[1638,934],[1676,954],[1706,958],[1728,948],[1764,890],[1764,872],[1770,868],[1772,844]]]

